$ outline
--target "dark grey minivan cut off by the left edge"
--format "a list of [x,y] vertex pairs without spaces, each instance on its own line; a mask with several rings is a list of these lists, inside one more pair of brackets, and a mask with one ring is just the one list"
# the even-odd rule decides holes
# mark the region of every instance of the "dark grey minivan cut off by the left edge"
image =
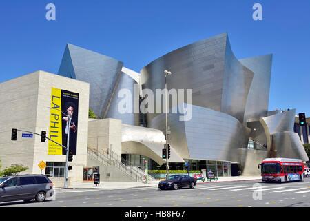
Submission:
[[0,177],[0,202],[44,202],[54,194],[54,184],[45,175]]

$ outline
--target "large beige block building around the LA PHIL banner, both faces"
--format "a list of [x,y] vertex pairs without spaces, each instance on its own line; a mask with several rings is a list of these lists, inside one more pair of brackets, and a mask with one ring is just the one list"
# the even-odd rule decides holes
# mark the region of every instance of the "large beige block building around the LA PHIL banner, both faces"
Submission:
[[[12,142],[11,129],[27,129],[36,133],[49,131],[50,100],[52,87],[79,93],[79,128],[77,135],[77,155],[74,156],[69,177],[72,182],[83,181],[83,167],[87,164],[88,136],[88,83],[76,81],[52,73],[37,71],[12,81],[0,84],[0,159],[3,166],[12,163],[30,167],[25,173],[41,173],[39,162],[65,162],[63,155],[48,155],[48,142],[42,143],[40,136]],[[2,107],[2,104],[4,106]],[[45,172],[45,170],[43,170]]]

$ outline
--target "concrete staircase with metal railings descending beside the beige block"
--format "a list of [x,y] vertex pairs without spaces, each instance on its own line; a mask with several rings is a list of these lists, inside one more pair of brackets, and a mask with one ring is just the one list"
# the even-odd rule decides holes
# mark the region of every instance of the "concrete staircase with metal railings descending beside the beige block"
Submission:
[[[87,166],[100,166],[101,181],[145,181],[145,172],[136,166],[128,166],[122,157],[113,151],[98,153],[92,148],[87,149]],[[149,181],[154,180],[150,175]]]

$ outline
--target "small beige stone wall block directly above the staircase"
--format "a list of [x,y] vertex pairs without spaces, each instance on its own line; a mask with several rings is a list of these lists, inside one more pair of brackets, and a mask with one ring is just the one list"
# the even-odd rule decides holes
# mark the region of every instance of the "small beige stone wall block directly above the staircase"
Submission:
[[121,127],[119,119],[90,119],[88,124],[88,147],[98,150],[112,151],[121,155]]

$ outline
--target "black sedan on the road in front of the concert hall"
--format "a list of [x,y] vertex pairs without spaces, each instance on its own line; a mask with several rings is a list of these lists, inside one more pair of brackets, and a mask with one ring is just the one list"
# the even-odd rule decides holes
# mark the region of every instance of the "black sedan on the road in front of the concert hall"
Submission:
[[196,180],[189,175],[169,175],[167,180],[161,181],[158,184],[159,189],[180,189],[184,186],[195,188]]

